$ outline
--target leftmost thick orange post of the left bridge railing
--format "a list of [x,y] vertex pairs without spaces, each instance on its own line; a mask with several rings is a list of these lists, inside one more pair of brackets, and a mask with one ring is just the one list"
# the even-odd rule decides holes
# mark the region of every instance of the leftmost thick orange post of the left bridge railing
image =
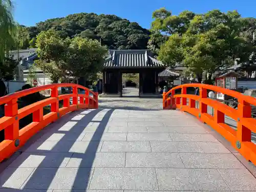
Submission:
[[[5,116],[15,117],[18,114],[17,99],[12,99],[5,104]],[[13,123],[5,128],[5,139],[15,140],[19,136],[19,121],[18,117],[12,119]]]

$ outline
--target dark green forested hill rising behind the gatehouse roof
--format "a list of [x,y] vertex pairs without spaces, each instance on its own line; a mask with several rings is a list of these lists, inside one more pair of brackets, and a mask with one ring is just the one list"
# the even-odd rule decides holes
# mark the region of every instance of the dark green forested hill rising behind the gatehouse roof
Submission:
[[80,36],[97,39],[109,49],[146,49],[150,35],[147,29],[143,29],[137,23],[131,23],[116,15],[95,13],[78,13],[48,19],[26,30],[30,39],[33,39],[39,32],[49,29],[56,30],[61,38]]

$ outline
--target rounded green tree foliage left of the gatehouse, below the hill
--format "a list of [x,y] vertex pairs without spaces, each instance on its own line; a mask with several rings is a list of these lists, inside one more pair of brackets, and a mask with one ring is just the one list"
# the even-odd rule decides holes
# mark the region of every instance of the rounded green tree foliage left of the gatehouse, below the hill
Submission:
[[97,40],[62,39],[53,29],[39,33],[36,47],[39,57],[36,65],[51,74],[53,82],[67,82],[68,76],[93,78],[101,70],[107,52]]

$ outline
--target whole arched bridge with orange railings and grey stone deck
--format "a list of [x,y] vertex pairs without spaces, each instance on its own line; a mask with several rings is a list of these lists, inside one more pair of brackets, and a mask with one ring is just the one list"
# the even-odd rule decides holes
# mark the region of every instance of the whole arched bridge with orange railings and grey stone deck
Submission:
[[[59,94],[66,87],[72,91]],[[199,95],[189,92],[195,87]],[[19,104],[45,90],[49,97]],[[237,98],[237,109],[208,98],[209,90]],[[0,105],[1,192],[256,191],[250,96],[183,84],[163,99],[98,100],[60,83],[1,97]]]

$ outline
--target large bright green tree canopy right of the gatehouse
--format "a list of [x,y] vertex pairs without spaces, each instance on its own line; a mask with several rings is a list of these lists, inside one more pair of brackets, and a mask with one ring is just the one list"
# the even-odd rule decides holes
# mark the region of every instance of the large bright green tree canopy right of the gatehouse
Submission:
[[253,19],[242,18],[237,11],[184,11],[175,16],[162,8],[153,17],[152,30],[168,35],[158,58],[169,66],[180,62],[197,75],[213,73],[233,65],[237,58],[248,62],[255,51],[254,42],[244,35]]

